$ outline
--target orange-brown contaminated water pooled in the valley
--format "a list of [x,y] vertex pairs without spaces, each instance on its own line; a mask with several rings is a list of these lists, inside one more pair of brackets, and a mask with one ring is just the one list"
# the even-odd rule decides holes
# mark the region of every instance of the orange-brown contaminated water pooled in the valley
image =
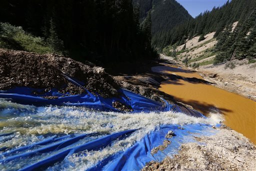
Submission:
[[152,71],[183,77],[161,82],[159,90],[191,105],[206,116],[213,108],[217,108],[224,116],[225,125],[242,133],[256,144],[256,102],[212,85],[189,81],[186,78],[202,77],[185,69],[166,65],[153,67]]

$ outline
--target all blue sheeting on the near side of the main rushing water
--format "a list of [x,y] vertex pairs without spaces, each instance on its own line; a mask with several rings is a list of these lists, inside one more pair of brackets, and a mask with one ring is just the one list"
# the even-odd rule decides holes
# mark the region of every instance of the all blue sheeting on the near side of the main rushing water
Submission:
[[[158,151],[151,155],[150,151],[153,147],[162,145],[165,135],[169,130],[175,132],[175,136],[169,138],[171,144],[163,151]],[[126,138],[131,133],[136,131],[126,130],[97,137],[96,134],[70,134],[46,138],[42,141],[11,149],[0,154],[0,163],[5,164],[11,162],[17,164],[27,162],[19,170],[37,170],[37,169],[65,169],[70,166],[61,163],[68,156],[79,153],[81,155],[84,150],[102,150],[107,146],[111,146],[113,141]],[[98,161],[88,170],[140,170],[151,160],[161,161],[166,156],[172,156],[178,150],[181,143],[192,142],[194,133],[196,136],[214,134],[209,125],[205,124],[190,124],[179,128],[179,125],[164,125],[146,134],[140,141],[136,142],[131,147],[124,151],[119,151]],[[9,136],[9,135],[4,135]],[[37,158],[37,159],[36,159]],[[38,159],[39,158],[39,159]],[[54,163],[53,167],[51,167]],[[62,165],[61,165],[62,164]],[[49,167],[50,166],[50,167]]]

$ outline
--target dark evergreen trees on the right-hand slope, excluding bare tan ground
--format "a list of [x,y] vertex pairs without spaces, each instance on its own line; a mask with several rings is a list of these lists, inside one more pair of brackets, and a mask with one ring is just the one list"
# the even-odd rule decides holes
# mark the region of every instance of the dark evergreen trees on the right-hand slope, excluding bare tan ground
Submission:
[[[237,26],[234,27],[234,23],[238,23]],[[214,32],[213,38],[217,41],[216,46],[211,49],[211,55],[216,55],[214,64],[230,60],[232,56],[232,59],[253,59],[256,58],[255,25],[256,1],[232,0],[169,30],[166,35],[168,41],[161,48],[169,45],[164,51],[172,51],[169,55],[175,56],[188,51],[185,46],[188,40],[199,36],[199,42],[205,39],[206,34]],[[181,45],[183,51],[176,53],[176,47]]]

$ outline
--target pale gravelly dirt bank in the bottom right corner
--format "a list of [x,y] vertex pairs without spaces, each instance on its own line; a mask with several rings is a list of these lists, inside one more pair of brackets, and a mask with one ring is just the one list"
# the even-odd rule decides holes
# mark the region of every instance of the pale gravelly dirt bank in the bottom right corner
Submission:
[[254,170],[256,147],[242,134],[224,126],[212,136],[194,137],[178,154],[161,162],[151,161],[145,170]]

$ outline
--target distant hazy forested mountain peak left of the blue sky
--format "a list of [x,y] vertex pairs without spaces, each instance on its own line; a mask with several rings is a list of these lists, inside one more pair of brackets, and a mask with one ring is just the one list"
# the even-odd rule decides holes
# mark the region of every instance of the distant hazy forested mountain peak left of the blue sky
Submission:
[[[191,20],[188,12],[174,0],[133,0],[139,9],[140,22],[151,15],[152,41],[154,48],[163,47],[167,32],[177,24]],[[149,14],[151,12],[151,14]]]

